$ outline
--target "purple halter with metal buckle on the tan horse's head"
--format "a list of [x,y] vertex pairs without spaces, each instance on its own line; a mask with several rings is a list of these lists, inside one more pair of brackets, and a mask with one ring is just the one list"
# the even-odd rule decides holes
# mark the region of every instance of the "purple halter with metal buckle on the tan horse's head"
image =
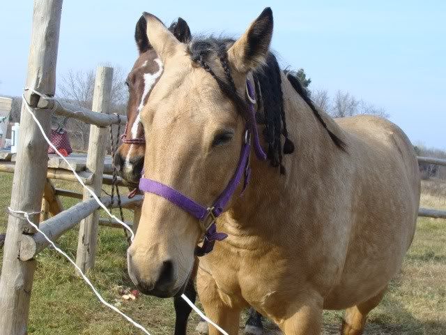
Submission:
[[266,160],[266,154],[259,143],[259,133],[257,132],[254,110],[254,103],[256,103],[255,94],[249,80],[246,81],[246,91],[247,98],[249,100],[249,115],[236,173],[233,175],[232,179],[229,181],[229,184],[226,186],[226,188],[224,188],[224,191],[220,194],[217,200],[215,200],[212,206],[202,206],[201,204],[194,202],[194,200],[187,198],[187,196],[183,195],[182,193],[174,190],[174,188],[161,184],[159,181],[144,177],[139,180],[139,189],[141,191],[159,195],[160,197],[176,204],[176,206],[180,207],[180,209],[187,211],[187,213],[194,216],[194,218],[197,218],[201,230],[203,230],[204,233],[203,246],[197,246],[195,249],[195,254],[197,256],[203,256],[206,255],[206,253],[210,253],[210,251],[213,250],[215,241],[222,241],[228,237],[228,235],[224,234],[223,232],[217,232],[215,219],[222,215],[226,204],[228,204],[229,200],[231,200],[233,193],[236,192],[237,186],[240,184],[242,178],[245,178],[243,191],[245,191],[245,188],[249,182],[249,177],[251,175],[251,168],[249,168],[251,134],[254,137],[254,152],[256,153],[256,156],[261,161]]

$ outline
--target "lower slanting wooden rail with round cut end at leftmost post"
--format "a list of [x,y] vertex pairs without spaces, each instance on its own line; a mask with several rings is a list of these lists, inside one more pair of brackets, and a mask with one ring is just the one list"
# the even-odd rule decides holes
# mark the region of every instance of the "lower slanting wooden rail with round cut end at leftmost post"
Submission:
[[[135,195],[134,198],[123,197],[121,199],[123,207],[129,206],[130,204],[140,203],[143,199],[142,195]],[[109,207],[110,197],[103,197],[100,199],[105,206]],[[113,207],[118,207],[118,204],[115,203]],[[98,202],[93,198],[89,200],[85,200],[84,202],[79,202],[79,204],[75,204],[73,207],[66,209],[60,214],[49,218],[47,221],[44,221],[40,224],[40,230],[42,230],[49,239],[55,241],[59,237],[62,236],[63,233],[67,232],[71,228],[73,228],[79,221],[83,218],[89,216],[93,211],[99,208]],[[37,232],[36,234],[23,234],[22,241],[20,242],[20,260],[31,260],[40,251],[43,251],[44,248],[48,246],[48,241],[45,239],[43,234]]]

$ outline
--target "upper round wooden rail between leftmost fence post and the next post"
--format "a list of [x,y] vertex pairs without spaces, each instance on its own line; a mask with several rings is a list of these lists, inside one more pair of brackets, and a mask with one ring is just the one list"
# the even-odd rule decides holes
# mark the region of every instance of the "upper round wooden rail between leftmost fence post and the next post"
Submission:
[[[31,94],[31,91],[26,91],[24,94],[25,100],[28,103]],[[39,99],[37,107],[45,110],[53,110],[56,115],[71,117],[72,119],[78,119],[79,121],[84,121],[86,124],[94,124],[98,127],[108,127],[111,124],[118,124],[119,121],[121,121],[121,124],[127,123],[127,117],[125,115],[120,115],[118,118],[114,114],[93,112],[84,107],[59,101],[55,98],[42,97]]]

